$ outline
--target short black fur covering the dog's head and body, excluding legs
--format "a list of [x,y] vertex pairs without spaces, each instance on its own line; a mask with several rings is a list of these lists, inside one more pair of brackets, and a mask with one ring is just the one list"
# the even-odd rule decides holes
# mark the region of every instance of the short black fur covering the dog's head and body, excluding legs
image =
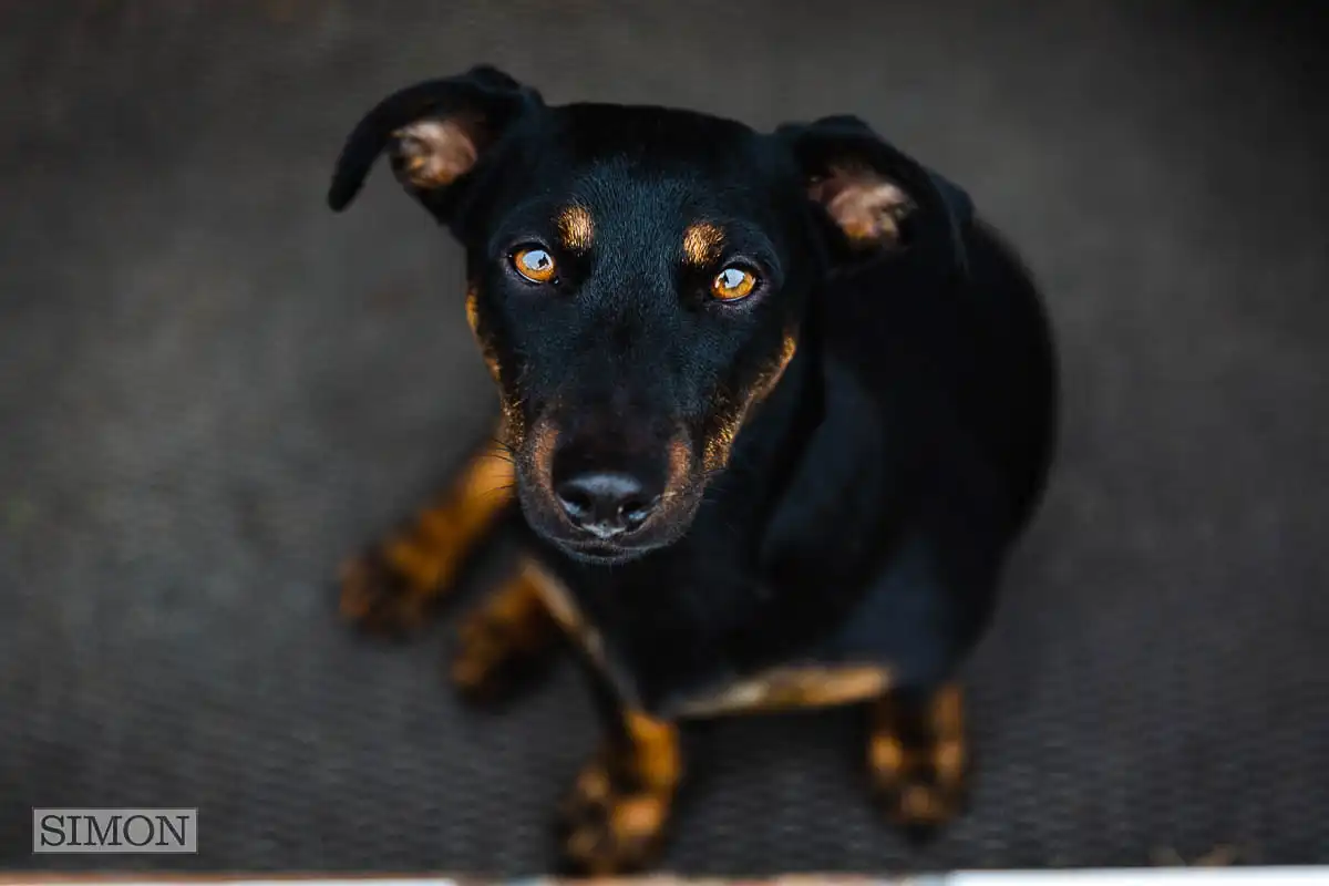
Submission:
[[[331,205],[383,150],[409,179],[393,133],[457,116],[474,166],[408,190],[466,248],[526,542],[602,636],[619,701],[668,717],[789,662],[949,679],[1037,509],[1057,425],[1039,295],[970,198],[853,117],[758,133],[554,108],[481,68],[375,109]],[[908,195],[893,240],[813,197],[845,169],[867,170],[867,197]],[[561,234],[570,209],[585,243]],[[722,232],[714,256],[687,254],[698,224]],[[532,244],[556,279],[514,272]],[[722,303],[707,287],[732,264],[760,282]],[[586,535],[560,510],[562,464],[657,477],[654,510]]]

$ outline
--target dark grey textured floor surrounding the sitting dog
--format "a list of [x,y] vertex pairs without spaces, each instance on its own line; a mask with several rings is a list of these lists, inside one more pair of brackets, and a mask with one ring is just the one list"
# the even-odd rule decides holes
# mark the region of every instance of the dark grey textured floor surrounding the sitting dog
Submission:
[[[970,814],[913,849],[852,715],[736,721],[667,866],[1329,862],[1317,5],[0,3],[0,869],[550,863],[597,741],[571,668],[477,713],[447,618],[335,616],[493,402],[460,251],[381,167],[344,217],[324,187],[371,104],[480,61],[552,102],[860,114],[1019,244],[1061,336]],[[199,854],[29,854],[33,806],[136,805],[199,808]]]

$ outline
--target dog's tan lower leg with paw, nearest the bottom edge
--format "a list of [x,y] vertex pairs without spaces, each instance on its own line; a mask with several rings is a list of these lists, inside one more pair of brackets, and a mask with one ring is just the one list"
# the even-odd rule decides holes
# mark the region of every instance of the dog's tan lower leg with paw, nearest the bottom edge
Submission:
[[664,847],[683,752],[674,723],[631,709],[610,715],[599,753],[560,813],[565,865],[582,875],[641,871]]

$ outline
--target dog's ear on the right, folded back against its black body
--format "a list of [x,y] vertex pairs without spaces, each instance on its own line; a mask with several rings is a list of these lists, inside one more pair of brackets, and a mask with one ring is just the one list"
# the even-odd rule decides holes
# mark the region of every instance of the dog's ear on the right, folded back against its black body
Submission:
[[824,117],[775,132],[793,155],[808,199],[843,235],[839,260],[922,250],[965,267],[973,203],[857,117]]

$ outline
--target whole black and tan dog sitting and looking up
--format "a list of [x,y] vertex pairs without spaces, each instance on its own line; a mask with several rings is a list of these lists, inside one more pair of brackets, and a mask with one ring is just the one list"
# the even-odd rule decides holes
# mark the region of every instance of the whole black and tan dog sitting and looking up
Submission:
[[582,871],[662,847],[690,719],[863,703],[889,816],[953,816],[953,679],[1041,497],[1057,399],[1039,296],[965,193],[853,117],[763,134],[549,106],[488,66],[371,110],[332,209],[383,151],[465,246],[501,424],[348,566],[343,611],[415,624],[521,515],[529,557],[465,622],[453,677],[492,693],[577,640],[607,724],[562,810]]

